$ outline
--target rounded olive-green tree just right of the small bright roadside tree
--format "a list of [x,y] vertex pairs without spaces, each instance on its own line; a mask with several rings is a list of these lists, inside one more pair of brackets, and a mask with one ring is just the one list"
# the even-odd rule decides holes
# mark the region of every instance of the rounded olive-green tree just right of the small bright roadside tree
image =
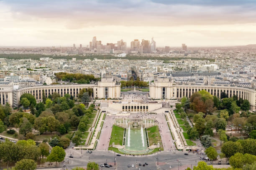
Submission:
[[243,152],[243,147],[241,143],[228,141],[223,143],[221,152],[225,154],[226,158],[230,158],[231,156],[235,155],[235,153]]

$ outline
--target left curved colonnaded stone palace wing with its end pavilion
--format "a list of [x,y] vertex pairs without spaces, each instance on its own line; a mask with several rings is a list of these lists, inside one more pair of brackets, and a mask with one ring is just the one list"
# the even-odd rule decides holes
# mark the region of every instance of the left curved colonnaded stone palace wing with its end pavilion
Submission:
[[20,96],[24,93],[29,93],[36,98],[37,102],[43,100],[43,92],[48,97],[54,92],[59,93],[61,97],[65,94],[77,97],[80,90],[83,88],[92,88],[92,98],[113,98],[118,99],[120,97],[120,82],[117,82],[113,77],[102,78],[95,84],[66,84],[66,85],[41,85],[21,87],[16,86],[0,87],[0,103],[5,105],[9,103],[11,106],[16,107],[20,103]]

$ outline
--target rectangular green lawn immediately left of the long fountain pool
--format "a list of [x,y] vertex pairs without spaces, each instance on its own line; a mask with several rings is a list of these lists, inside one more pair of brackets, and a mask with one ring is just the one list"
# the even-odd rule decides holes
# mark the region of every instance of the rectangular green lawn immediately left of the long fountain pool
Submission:
[[115,143],[115,145],[123,145],[123,133],[124,128],[113,125],[109,145],[112,145],[113,143]]

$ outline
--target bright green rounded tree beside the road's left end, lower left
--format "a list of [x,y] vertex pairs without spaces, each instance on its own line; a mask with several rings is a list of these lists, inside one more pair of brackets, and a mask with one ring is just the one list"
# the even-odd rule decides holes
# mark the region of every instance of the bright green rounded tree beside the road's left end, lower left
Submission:
[[61,162],[65,158],[65,150],[59,146],[52,148],[50,155],[47,157],[46,161],[49,162]]

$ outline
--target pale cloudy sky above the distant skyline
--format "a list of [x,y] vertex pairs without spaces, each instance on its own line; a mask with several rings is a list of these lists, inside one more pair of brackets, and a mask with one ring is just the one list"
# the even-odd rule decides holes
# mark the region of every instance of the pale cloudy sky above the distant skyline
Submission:
[[256,44],[256,0],[0,0],[0,46]]

